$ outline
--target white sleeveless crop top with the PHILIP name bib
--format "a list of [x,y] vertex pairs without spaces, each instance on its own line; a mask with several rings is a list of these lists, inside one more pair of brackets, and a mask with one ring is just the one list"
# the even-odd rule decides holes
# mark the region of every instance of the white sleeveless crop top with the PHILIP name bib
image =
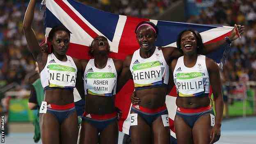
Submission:
[[210,78],[205,55],[198,55],[196,64],[191,68],[184,65],[183,56],[179,57],[173,76],[178,96],[206,96],[209,94]]

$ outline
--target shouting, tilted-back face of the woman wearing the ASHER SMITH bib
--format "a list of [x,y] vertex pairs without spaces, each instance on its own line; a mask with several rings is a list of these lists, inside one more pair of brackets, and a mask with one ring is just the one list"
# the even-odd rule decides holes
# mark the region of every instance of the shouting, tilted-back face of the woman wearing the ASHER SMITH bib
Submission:
[[98,36],[91,43],[91,53],[93,53],[93,55],[97,53],[108,54],[109,52],[110,52],[110,46],[107,41],[107,38],[103,36]]

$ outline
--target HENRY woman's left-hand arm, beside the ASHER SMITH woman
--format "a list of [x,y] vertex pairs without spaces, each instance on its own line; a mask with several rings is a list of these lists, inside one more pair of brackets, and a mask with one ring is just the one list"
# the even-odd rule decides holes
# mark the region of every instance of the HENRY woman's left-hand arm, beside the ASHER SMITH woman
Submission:
[[132,56],[128,55],[123,62],[123,69],[121,74],[117,78],[117,93],[122,89],[126,82],[132,78],[132,73],[130,72],[130,63],[132,61]]

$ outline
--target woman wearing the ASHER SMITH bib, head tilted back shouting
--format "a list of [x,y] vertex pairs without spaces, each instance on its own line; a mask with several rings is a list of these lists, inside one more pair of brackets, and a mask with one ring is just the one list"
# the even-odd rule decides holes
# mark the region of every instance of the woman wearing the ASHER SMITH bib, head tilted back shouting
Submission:
[[80,144],[117,144],[118,125],[115,95],[122,62],[108,57],[110,46],[103,36],[90,46],[89,62],[81,60],[84,72],[85,112],[82,117]]

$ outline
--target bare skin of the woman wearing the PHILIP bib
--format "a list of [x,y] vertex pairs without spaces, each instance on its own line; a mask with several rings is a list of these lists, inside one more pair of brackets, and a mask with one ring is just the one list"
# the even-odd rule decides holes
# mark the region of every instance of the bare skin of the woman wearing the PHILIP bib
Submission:
[[[191,44],[186,47],[186,44]],[[181,48],[184,53],[184,64],[186,67],[193,67],[197,62],[197,40],[196,36],[190,32],[184,32],[181,36]],[[171,62],[171,70],[174,71],[177,59]],[[176,137],[178,144],[213,144],[220,137],[220,126],[223,114],[223,98],[221,91],[221,81],[219,76],[219,67],[212,60],[206,57],[206,67],[210,77],[210,84],[215,99],[215,126],[210,128],[210,114],[204,114],[190,128],[183,118],[176,115],[174,125],[176,129]],[[210,105],[210,98],[205,97],[177,97],[176,105],[187,109],[195,109],[198,107],[206,107]]]

